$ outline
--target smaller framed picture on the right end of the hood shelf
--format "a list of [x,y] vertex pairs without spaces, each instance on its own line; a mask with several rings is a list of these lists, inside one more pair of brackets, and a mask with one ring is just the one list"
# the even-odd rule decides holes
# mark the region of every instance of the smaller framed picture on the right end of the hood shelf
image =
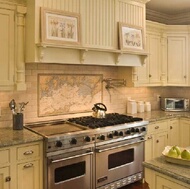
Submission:
[[119,23],[119,42],[121,50],[143,50],[143,30],[125,23]]

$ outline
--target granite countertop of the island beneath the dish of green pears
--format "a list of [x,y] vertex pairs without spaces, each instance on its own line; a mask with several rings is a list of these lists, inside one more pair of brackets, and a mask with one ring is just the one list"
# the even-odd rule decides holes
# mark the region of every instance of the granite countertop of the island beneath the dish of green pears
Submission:
[[164,156],[143,162],[144,167],[190,184],[190,166],[177,165],[165,161]]

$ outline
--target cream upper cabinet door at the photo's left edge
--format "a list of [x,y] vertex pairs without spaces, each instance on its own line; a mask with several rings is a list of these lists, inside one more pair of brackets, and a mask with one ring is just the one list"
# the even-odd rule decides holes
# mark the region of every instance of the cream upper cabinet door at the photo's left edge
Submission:
[[14,85],[14,12],[0,9],[0,88]]

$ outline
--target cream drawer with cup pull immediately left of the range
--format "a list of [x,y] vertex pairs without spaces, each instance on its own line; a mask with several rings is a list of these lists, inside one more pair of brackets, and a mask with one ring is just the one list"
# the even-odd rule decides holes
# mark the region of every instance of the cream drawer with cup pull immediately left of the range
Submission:
[[37,158],[40,156],[40,145],[33,144],[17,148],[17,160],[25,160],[28,158]]

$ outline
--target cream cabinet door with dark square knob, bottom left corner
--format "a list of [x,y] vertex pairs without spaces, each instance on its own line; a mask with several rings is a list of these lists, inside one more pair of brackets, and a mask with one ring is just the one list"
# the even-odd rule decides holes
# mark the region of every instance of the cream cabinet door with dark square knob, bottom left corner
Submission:
[[10,189],[10,172],[9,167],[0,168],[0,188]]

